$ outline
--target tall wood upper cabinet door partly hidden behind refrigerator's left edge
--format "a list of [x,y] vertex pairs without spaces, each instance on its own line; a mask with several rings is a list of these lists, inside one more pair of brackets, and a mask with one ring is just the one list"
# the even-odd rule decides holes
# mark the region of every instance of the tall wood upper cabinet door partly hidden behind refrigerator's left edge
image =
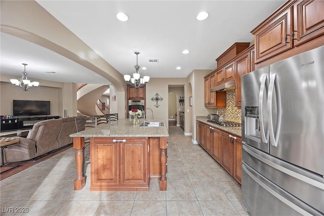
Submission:
[[250,53],[245,54],[241,58],[235,60],[235,106],[241,107],[241,83],[242,75],[250,71]]

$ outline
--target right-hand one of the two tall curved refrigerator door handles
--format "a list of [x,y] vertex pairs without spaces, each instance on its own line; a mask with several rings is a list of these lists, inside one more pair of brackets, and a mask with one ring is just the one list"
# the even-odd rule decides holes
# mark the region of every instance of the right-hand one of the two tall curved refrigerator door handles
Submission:
[[[268,128],[269,128],[269,137],[270,137],[270,143],[272,146],[278,145],[278,138],[279,138],[279,131],[280,131],[280,125],[281,125],[281,100],[280,100],[280,91],[279,91],[279,85],[276,79],[276,74],[271,73],[270,74],[270,83],[269,83],[269,92],[268,92],[268,99],[267,99],[267,107],[268,107]],[[272,122],[272,96],[273,91],[276,92],[276,105],[277,105],[277,116],[276,116],[276,129],[274,133],[273,129],[273,122]]]

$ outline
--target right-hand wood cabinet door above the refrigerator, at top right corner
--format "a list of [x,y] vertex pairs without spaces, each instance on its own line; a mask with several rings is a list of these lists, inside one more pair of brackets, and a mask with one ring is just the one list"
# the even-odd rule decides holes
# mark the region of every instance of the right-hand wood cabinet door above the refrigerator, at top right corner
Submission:
[[324,34],[324,1],[298,1],[294,5],[294,45]]

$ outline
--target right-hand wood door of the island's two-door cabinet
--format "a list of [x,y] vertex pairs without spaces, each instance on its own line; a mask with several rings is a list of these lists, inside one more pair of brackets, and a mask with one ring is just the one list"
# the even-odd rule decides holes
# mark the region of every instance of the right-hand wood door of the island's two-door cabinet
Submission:
[[127,138],[120,143],[120,185],[148,185],[147,138]]

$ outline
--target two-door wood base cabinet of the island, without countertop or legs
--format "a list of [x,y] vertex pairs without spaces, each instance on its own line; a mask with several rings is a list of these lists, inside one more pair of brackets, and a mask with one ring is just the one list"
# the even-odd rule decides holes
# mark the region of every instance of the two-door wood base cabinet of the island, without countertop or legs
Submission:
[[148,138],[92,138],[91,191],[148,190]]

